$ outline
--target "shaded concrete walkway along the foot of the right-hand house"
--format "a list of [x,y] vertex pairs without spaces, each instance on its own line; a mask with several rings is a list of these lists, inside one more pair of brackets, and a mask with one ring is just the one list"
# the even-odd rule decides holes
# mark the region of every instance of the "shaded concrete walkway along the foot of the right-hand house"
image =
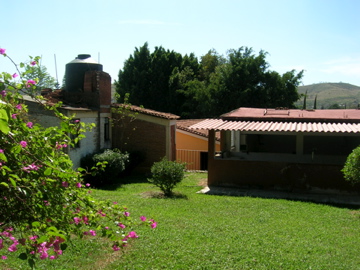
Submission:
[[300,193],[300,192],[284,192],[284,191],[270,191],[270,190],[245,190],[245,189],[226,188],[226,187],[204,187],[202,190],[198,191],[197,193],[203,193],[209,195],[310,201],[310,202],[323,203],[323,204],[336,204],[336,205],[360,208],[359,195]]

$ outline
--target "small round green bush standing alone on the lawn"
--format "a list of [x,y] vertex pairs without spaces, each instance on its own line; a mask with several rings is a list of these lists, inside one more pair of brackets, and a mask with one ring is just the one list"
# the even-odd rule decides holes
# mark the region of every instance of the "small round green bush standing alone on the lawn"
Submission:
[[155,162],[151,167],[152,178],[148,179],[150,183],[159,187],[165,196],[172,196],[174,187],[184,178],[185,163],[169,161],[163,158]]

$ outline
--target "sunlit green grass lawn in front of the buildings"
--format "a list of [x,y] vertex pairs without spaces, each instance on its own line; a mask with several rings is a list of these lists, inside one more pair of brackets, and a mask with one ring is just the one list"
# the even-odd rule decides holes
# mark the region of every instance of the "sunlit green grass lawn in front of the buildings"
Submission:
[[173,198],[141,177],[96,190],[96,198],[118,201],[158,227],[140,228],[141,237],[121,252],[105,240],[76,240],[61,259],[41,261],[38,269],[360,269],[358,209],[197,194],[206,177],[188,173]]

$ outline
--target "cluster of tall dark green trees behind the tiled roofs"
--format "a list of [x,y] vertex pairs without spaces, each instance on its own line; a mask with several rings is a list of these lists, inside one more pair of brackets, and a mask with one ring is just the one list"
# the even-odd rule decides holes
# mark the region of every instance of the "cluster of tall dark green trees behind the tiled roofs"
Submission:
[[[142,51],[147,64],[134,61]],[[241,106],[293,108],[303,72],[271,71],[266,55],[241,47],[223,57],[213,49],[199,63],[194,54],[182,57],[162,47],[150,54],[145,43],[119,72],[117,91],[122,96],[130,93],[133,104],[183,118],[218,117]],[[146,83],[139,87],[139,81]]]

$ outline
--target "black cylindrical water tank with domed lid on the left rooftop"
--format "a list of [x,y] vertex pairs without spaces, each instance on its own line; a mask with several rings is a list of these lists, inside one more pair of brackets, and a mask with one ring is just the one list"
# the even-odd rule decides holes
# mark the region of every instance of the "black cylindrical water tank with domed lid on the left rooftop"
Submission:
[[89,70],[102,71],[102,65],[91,58],[90,54],[79,54],[66,64],[65,90],[68,92],[84,91],[84,76]]

